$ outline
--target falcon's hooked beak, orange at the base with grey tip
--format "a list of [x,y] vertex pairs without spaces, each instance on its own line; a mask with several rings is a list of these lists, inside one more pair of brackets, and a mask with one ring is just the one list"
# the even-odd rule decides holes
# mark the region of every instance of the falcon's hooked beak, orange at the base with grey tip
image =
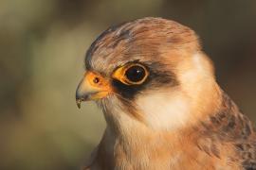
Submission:
[[82,101],[101,99],[111,93],[109,82],[93,72],[87,72],[76,91],[76,102],[80,109]]

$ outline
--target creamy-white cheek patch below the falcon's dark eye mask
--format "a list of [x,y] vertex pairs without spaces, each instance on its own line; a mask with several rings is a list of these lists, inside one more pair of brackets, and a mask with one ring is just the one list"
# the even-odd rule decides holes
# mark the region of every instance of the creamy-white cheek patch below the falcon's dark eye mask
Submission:
[[183,127],[189,120],[190,101],[182,93],[144,94],[137,98],[136,103],[145,123],[155,130]]

